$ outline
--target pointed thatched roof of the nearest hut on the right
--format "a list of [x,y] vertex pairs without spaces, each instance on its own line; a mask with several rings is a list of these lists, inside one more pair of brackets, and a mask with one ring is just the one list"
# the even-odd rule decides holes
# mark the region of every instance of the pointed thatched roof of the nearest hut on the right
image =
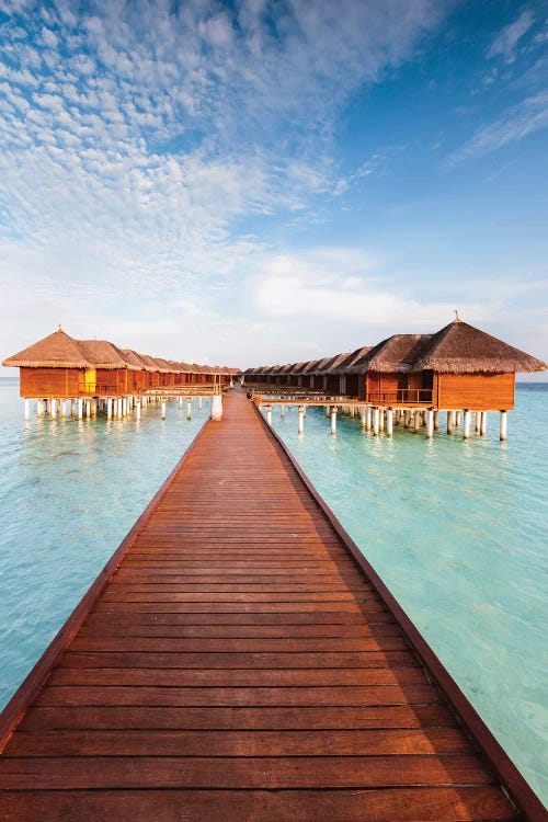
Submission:
[[515,374],[543,372],[548,366],[457,318],[432,334],[415,357],[413,370],[426,368],[441,374]]

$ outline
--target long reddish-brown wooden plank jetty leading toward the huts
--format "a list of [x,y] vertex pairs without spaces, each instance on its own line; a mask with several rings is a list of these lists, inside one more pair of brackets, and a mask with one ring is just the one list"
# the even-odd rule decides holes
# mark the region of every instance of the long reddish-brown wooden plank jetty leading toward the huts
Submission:
[[2,822],[545,818],[240,390],[7,706],[2,745]]

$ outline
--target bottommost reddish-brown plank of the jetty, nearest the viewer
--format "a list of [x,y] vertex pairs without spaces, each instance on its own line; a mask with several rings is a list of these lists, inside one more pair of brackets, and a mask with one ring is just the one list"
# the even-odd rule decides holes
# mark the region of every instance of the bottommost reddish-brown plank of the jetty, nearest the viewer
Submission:
[[511,820],[515,812],[499,788],[367,790],[60,790],[8,794],[7,820],[48,822],[471,822]]

